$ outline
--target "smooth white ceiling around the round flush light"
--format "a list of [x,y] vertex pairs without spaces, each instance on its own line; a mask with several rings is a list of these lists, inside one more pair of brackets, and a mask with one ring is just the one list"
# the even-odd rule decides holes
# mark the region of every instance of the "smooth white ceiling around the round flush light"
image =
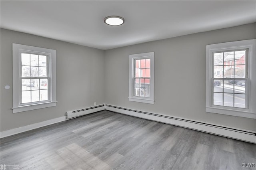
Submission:
[[[1,28],[112,49],[256,22],[256,1],[0,1]],[[116,15],[121,26],[103,20]]]

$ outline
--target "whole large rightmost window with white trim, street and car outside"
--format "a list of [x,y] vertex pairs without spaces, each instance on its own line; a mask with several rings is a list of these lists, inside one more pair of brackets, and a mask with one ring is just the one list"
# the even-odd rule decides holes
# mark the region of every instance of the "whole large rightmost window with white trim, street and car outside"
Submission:
[[206,112],[256,119],[255,42],[206,45]]

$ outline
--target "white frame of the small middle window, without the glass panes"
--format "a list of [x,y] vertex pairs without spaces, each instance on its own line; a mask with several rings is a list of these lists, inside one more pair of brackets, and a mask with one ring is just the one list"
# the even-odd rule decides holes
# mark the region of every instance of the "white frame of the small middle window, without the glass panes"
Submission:
[[[135,60],[150,59],[150,97],[134,95]],[[129,56],[129,101],[154,104],[154,52],[132,54]]]

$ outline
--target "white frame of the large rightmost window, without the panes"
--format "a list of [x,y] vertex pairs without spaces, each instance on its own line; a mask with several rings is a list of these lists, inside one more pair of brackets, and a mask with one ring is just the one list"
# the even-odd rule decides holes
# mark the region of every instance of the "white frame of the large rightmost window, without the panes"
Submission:
[[[248,83],[246,109],[212,104],[213,53],[248,49]],[[206,45],[206,112],[256,119],[256,39]]]

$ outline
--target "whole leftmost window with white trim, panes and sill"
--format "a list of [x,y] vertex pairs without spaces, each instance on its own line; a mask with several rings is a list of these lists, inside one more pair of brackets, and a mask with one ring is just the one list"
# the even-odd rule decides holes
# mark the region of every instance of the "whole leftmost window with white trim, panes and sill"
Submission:
[[13,113],[56,106],[56,50],[12,44]]

